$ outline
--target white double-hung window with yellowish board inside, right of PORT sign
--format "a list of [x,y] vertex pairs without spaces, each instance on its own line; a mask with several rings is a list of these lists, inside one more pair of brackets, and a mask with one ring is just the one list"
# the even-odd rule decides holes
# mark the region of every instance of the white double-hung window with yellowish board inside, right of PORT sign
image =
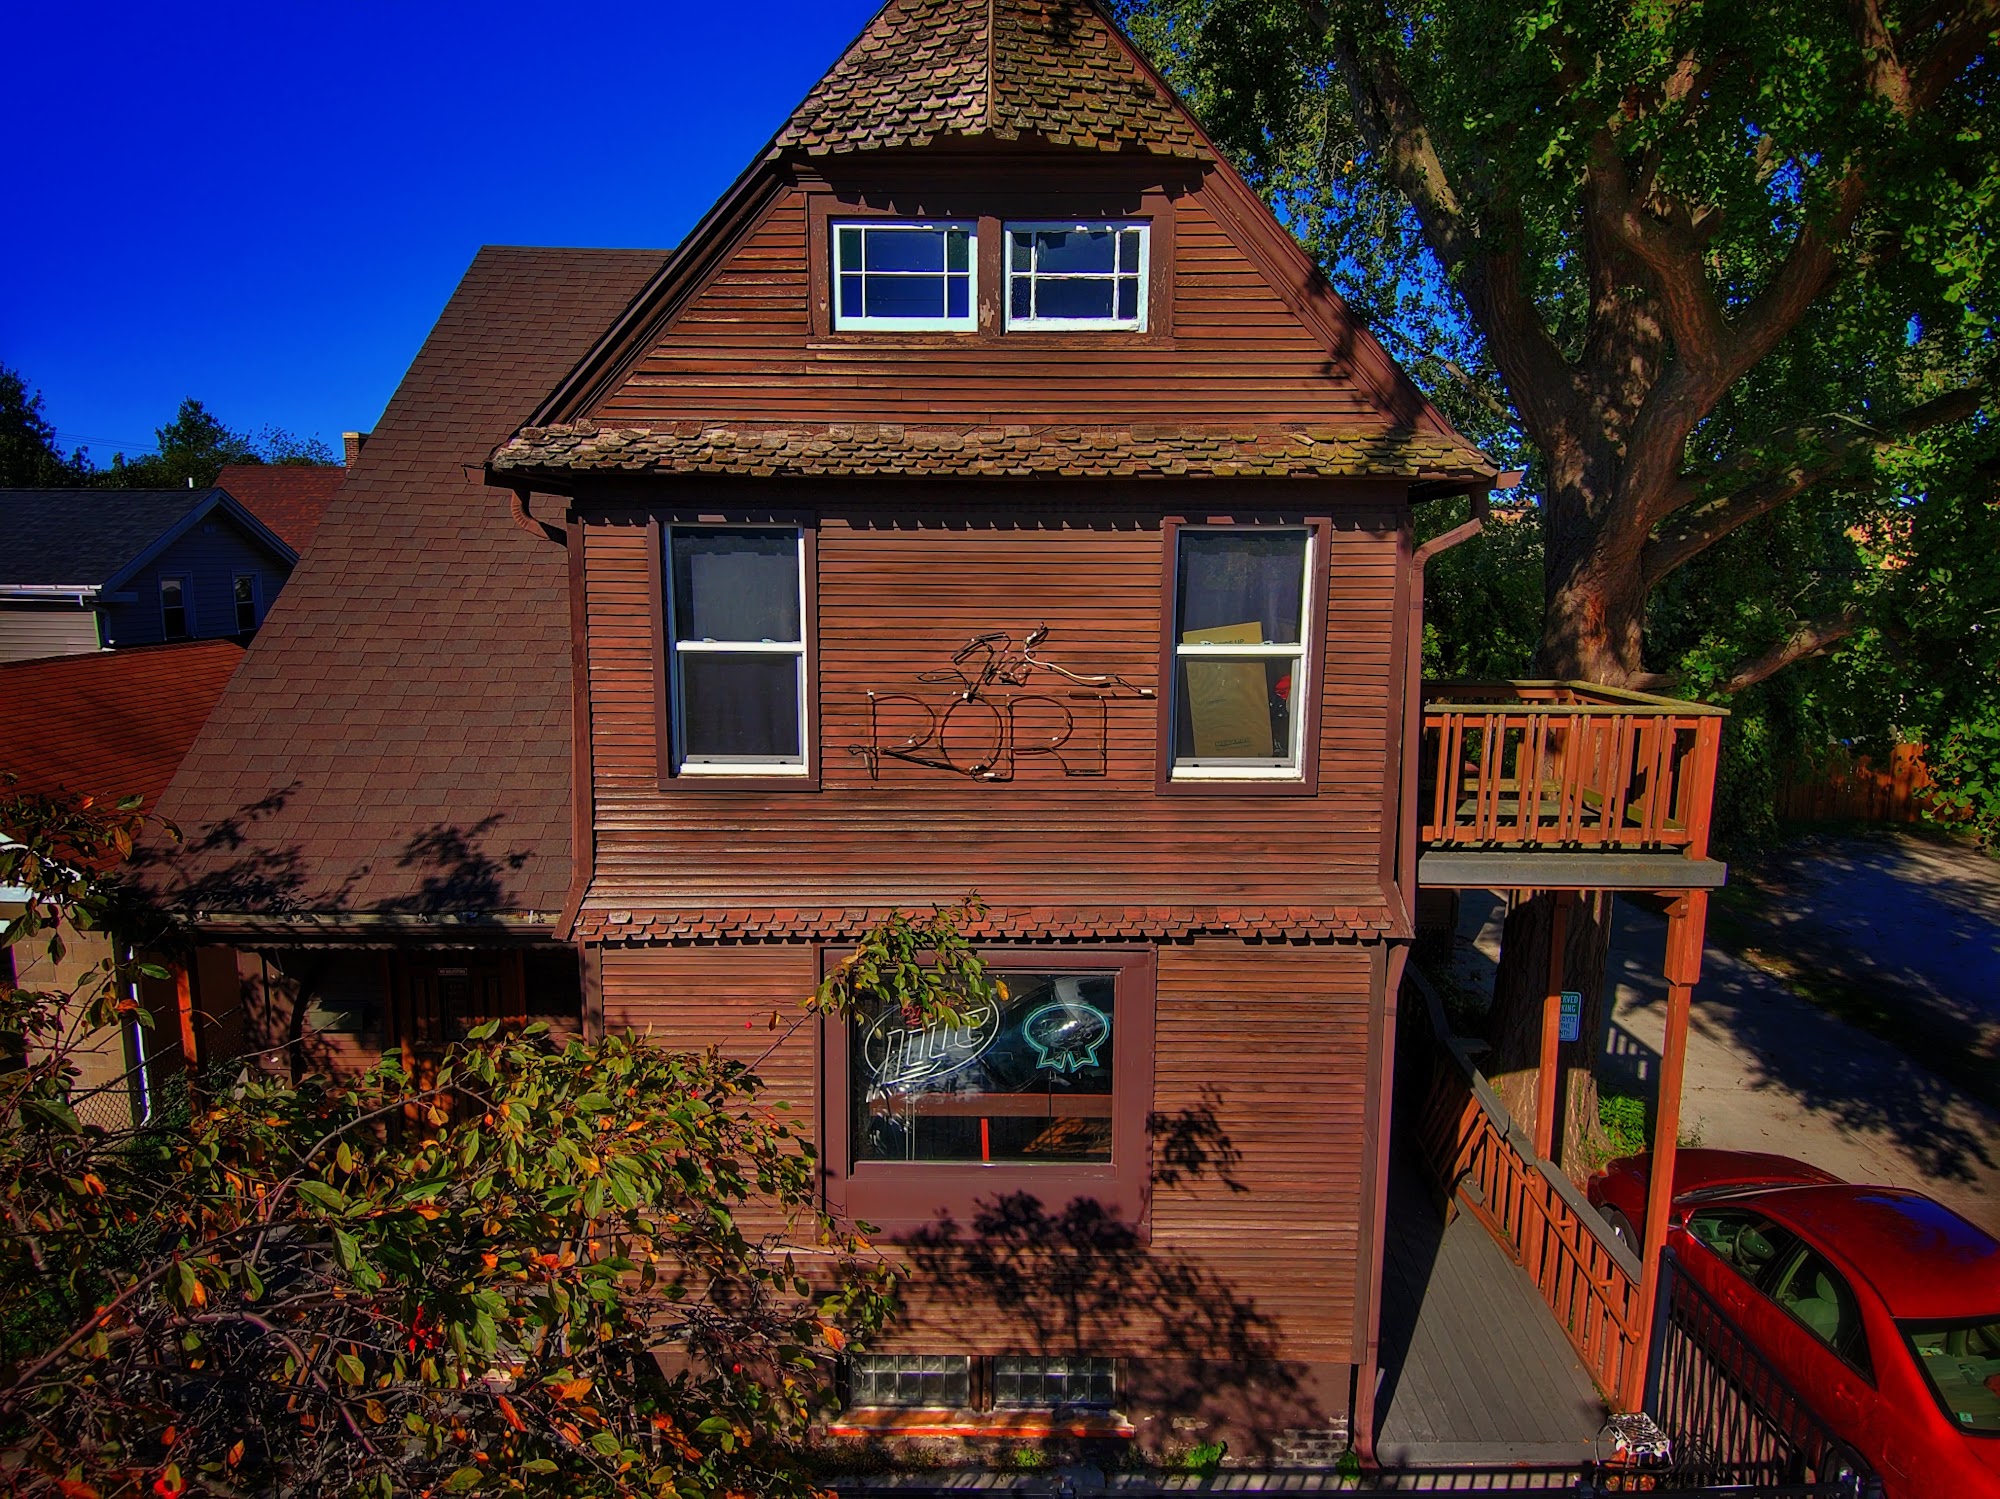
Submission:
[[1182,526],[1174,562],[1174,779],[1300,779],[1314,702],[1314,532]]

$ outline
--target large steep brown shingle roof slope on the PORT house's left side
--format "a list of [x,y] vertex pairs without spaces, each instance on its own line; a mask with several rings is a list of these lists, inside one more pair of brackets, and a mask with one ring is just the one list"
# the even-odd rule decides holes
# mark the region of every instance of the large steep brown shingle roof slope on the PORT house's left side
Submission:
[[564,552],[478,466],[664,254],[478,254],[162,811],[188,909],[554,913],[570,879]]

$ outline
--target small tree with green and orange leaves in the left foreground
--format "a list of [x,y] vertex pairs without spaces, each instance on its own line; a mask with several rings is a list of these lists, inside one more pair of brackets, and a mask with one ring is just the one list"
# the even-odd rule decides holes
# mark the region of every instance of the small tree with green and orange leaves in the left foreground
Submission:
[[[30,891],[10,943],[118,909],[94,871],[134,811],[18,797],[0,825],[0,883]],[[174,1117],[84,1125],[74,1037],[144,1023],[144,971],[106,957],[0,1011],[10,1493],[810,1491],[830,1361],[894,1273],[816,1211],[812,1147],[754,1069],[484,1025],[422,1071],[242,1065]],[[946,1013],[986,981],[954,913],[898,917],[836,973],[814,997],[836,1013]]]

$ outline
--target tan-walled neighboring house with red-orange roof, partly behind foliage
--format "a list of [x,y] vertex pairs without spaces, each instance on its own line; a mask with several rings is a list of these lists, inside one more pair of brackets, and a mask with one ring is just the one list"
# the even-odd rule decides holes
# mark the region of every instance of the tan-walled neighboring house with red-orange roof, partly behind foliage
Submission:
[[[0,704],[8,706],[0,714],[0,803],[76,791],[102,803],[136,795],[152,811],[242,656],[234,640],[198,640],[0,664]],[[0,837],[6,831],[0,817]],[[22,899],[24,891],[0,885],[0,923],[20,913]],[[64,941],[58,961],[38,943],[0,953],[0,979],[12,961],[16,983],[68,991],[108,955],[102,931],[66,927]],[[198,961],[214,963],[206,955]],[[162,989],[156,999],[154,1027],[106,1029],[76,1053],[88,1121],[144,1117],[162,1069],[178,1067],[174,993]],[[214,1039],[236,1033],[240,1027]]]

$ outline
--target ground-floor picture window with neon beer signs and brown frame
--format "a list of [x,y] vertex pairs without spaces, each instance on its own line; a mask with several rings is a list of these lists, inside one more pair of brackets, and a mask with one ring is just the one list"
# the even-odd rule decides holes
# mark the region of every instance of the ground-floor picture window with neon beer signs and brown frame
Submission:
[[1000,993],[956,1023],[826,1023],[828,1205],[884,1229],[978,1227],[1028,1193],[1138,1223],[1152,1107],[1152,949],[982,953]]

